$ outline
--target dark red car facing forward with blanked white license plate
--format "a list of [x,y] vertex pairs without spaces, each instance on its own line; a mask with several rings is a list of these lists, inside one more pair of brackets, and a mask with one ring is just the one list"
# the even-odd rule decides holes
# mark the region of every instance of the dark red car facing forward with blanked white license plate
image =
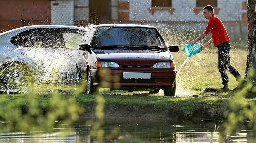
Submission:
[[[89,29],[79,46],[84,53],[77,64],[78,88],[91,94],[107,84],[111,90],[158,93],[163,89],[164,96],[175,95],[177,70],[171,52],[179,48],[168,47],[156,27],[111,24]],[[102,75],[100,70],[107,72]]]

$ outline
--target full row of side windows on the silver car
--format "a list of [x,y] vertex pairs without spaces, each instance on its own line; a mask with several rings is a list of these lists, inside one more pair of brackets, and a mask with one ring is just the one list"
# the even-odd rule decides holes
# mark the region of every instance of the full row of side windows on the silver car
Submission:
[[[73,46],[79,45],[75,42],[79,41],[78,39],[82,36],[82,34],[82,30],[78,29],[36,28],[23,31],[13,36],[13,38],[11,39],[11,43],[16,46],[33,48],[75,48]],[[64,40],[64,35],[66,41]],[[72,41],[74,38],[75,40]]]

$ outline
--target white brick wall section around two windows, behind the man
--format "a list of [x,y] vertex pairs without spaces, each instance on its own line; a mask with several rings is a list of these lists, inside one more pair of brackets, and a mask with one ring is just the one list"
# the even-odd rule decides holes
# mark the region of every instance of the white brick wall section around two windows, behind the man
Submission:
[[[121,0],[119,0],[121,1]],[[123,0],[122,0],[123,1]],[[222,21],[238,21],[241,19],[241,4],[243,0],[218,0],[220,8],[216,15]],[[172,0],[174,14],[168,10],[156,10],[154,14],[148,11],[151,7],[151,0],[130,0],[129,1],[130,21],[206,21],[200,11],[198,15],[194,13],[196,0]]]

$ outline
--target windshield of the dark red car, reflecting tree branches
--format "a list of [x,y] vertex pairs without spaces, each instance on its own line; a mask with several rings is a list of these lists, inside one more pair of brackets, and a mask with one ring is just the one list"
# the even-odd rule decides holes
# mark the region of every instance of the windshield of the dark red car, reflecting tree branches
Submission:
[[99,27],[92,47],[111,45],[165,47],[160,34],[154,28]]

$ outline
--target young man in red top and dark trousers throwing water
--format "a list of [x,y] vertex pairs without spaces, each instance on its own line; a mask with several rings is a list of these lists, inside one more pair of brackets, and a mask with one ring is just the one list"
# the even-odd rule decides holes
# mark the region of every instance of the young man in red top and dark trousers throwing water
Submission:
[[230,39],[228,33],[224,27],[222,21],[213,14],[214,10],[212,6],[207,5],[203,8],[203,16],[208,19],[208,25],[205,31],[199,35],[195,40],[191,41],[191,44],[204,38],[209,32],[212,34],[212,38],[201,46],[201,50],[205,49],[210,44],[214,44],[214,47],[218,47],[218,69],[220,71],[223,88],[220,92],[230,92],[228,88],[228,75],[226,70],[230,71],[237,81],[242,82],[241,75],[238,71],[230,64]]

